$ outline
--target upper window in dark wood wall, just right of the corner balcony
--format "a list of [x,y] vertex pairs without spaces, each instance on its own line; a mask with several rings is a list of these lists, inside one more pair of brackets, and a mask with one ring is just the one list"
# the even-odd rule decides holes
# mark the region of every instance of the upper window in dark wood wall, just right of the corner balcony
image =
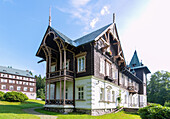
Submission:
[[85,71],[85,56],[77,58],[78,60],[78,72]]

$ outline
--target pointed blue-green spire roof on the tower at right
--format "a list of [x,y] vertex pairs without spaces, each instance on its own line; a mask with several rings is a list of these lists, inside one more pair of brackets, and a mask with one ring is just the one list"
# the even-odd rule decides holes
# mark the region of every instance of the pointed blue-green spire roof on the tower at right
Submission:
[[140,62],[139,62],[137,52],[135,50],[135,52],[133,54],[133,57],[132,57],[132,59],[130,61],[129,67],[138,67],[138,66],[140,66]]

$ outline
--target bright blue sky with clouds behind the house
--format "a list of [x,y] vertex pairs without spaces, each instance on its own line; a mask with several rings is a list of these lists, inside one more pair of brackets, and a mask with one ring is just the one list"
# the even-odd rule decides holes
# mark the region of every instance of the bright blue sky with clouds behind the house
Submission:
[[0,65],[45,76],[35,54],[48,27],[72,40],[112,23],[116,14],[127,64],[137,50],[152,73],[170,71],[169,0],[0,0]]

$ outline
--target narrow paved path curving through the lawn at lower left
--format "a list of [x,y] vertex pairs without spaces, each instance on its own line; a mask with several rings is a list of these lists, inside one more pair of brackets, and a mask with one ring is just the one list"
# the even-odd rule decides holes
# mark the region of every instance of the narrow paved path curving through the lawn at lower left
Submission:
[[57,118],[57,116],[46,115],[46,114],[42,114],[42,113],[34,111],[35,109],[38,109],[38,108],[41,108],[41,107],[28,108],[28,109],[23,109],[23,110],[26,113],[39,116],[40,119],[56,119]]

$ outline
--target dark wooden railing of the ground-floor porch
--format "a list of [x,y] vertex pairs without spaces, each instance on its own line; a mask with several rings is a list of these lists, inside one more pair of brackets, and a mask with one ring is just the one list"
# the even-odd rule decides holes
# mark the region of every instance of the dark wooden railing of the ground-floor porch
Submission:
[[[64,100],[46,100],[45,104],[48,104],[48,105],[63,105],[64,104]],[[66,99],[65,100],[65,104],[66,105],[73,105],[73,100],[68,100]]]

